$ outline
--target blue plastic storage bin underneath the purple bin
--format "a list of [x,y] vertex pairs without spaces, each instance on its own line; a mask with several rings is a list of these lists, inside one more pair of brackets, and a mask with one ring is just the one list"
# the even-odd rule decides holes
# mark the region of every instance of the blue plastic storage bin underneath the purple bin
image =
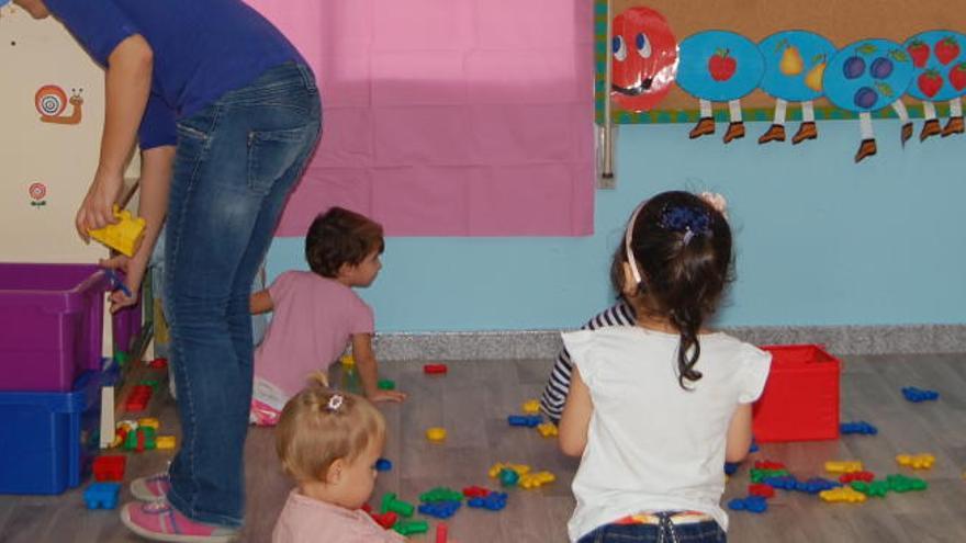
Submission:
[[68,393],[0,393],[0,494],[60,494],[80,485],[98,452],[102,372]]

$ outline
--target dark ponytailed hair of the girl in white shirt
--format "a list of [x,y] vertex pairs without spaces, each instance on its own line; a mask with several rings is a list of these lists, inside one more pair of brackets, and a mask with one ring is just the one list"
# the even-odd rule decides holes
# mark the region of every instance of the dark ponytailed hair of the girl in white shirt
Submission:
[[[639,278],[626,284],[625,263]],[[610,279],[638,315],[664,318],[681,333],[677,381],[696,382],[698,331],[731,281],[731,228],[723,214],[689,192],[664,192],[641,204],[614,254]]]

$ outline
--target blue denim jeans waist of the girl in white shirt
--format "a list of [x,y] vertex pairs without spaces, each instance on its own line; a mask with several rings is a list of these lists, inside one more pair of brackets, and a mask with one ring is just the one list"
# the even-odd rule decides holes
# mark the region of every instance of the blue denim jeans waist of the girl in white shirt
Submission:
[[727,543],[728,536],[714,520],[672,524],[662,517],[660,524],[604,524],[577,543]]

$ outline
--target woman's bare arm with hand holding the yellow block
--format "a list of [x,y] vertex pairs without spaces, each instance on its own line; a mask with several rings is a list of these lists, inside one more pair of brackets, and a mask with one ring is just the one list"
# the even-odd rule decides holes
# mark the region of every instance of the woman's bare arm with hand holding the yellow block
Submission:
[[89,241],[88,230],[115,222],[113,205],[123,185],[124,165],[144,116],[151,84],[154,53],[139,34],[122,41],[108,57],[104,84],[106,109],[98,171],[77,212],[75,225]]

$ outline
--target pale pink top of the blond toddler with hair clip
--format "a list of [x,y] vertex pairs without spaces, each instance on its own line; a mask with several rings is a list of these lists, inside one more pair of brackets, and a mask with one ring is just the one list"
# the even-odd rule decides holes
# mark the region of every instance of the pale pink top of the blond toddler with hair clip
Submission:
[[348,509],[318,501],[292,490],[276,529],[272,543],[404,543],[406,540],[377,524],[357,509]]

